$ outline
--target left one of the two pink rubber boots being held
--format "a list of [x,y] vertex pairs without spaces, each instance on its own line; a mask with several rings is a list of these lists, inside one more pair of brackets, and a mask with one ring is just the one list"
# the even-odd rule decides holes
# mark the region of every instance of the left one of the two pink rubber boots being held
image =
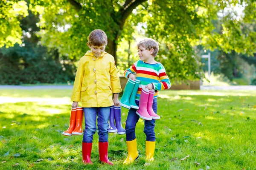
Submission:
[[142,88],[141,94],[140,94],[139,110],[137,110],[136,113],[142,119],[152,120],[152,117],[148,114],[148,111],[147,111],[148,93],[149,93],[149,90],[147,88],[145,89]]

